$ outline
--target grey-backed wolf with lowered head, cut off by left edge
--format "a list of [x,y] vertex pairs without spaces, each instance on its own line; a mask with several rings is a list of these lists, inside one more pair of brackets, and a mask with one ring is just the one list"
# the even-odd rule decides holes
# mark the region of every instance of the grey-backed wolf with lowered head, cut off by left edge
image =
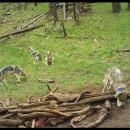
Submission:
[[9,65],[5,66],[0,70],[0,81],[2,81],[4,84],[7,85],[6,83],[6,78],[10,75],[13,74],[19,82],[21,82],[19,76],[17,74],[20,74],[26,78],[26,73],[20,68],[19,66],[15,65]]

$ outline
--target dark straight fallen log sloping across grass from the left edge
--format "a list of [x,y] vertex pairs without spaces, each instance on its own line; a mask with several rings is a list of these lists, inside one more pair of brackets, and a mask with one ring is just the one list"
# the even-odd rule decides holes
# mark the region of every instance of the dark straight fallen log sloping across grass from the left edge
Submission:
[[3,39],[5,37],[10,37],[12,35],[15,35],[15,34],[20,34],[20,33],[25,33],[25,32],[28,32],[28,31],[32,31],[34,29],[37,29],[37,28],[40,28],[42,26],[45,26],[45,25],[37,25],[37,26],[34,26],[34,27],[30,27],[30,28],[26,28],[26,29],[23,29],[23,30],[20,30],[20,31],[16,31],[16,32],[13,32],[13,33],[9,33],[9,34],[6,34],[6,35],[3,35],[3,36],[0,36],[0,39]]

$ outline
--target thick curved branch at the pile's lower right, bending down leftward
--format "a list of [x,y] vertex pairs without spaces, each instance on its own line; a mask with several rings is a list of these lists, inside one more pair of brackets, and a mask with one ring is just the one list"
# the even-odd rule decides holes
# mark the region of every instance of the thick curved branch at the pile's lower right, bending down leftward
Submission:
[[110,111],[108,111],[108,108],[111,108],[109,100],[107,100],[105,102],[105,107],[102,108],[98,120],[96,120],[95,122],[93,122],[93,123],[91,123],[91,124],[89,124],[87,126],[78,126],[77,128],[95,128],[96,126],[98,126],[99,124],[101,124],[105,120],[107,114],[110,113]]

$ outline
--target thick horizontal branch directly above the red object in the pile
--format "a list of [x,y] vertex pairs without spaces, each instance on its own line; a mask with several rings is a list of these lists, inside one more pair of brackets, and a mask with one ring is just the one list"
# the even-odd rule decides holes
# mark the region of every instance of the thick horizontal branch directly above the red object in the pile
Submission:
[[32,112],[29,114],[18,113],[18,117],[21,119],[28,119],[28,118],[36,118],[36,117],[58,117],[58,115],[50,112]]

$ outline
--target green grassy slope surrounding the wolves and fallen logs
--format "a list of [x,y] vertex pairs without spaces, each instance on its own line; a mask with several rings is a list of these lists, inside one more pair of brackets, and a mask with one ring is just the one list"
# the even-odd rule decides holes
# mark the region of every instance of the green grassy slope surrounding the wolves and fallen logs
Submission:
[[[6,3],[0,3],[0,6],[4,4]],[[5,10],[1,9],[0,14],[2,15],[9,6],[12,5],[6,6]],[[91,13],[79,16],[79,26],[73,20],[64,23],[68,36],[87,36],[87,39],[56,38],[63,35],[59,31],[60,21],[48,37],[37,36],[44,35],[45,30],[53,26],[52,17],[42,17],[35,21],[33,26],[39,24],[45,26],[1,41],[0,68],[11,64],[18,65],[26,71],[27,79],[22,83],[16,83],[13,76],[10,76],[7,79],[9,85],[0,87],[0,98],[6,100],[12,97],[25,101],[29,94],[34,97],[46,94],[47,84],[39,83],[38,78],[55,79],[56,83],[49,86],[51,88],[59,86],[59,91],[72,92],[90,84],[102,88],[104,72],[111,66],[119,67],[125,77],[129,78],[129,52],[113,51],[130,48],[130,15],[126,11],[127,3],[121,3],[121,7],[121,12],[114,14],[111,3],[94,3]],[[45,11],[48,11],[48,3],[40,3],[36,7],[31,3],[28,5],[28,11],[24,11],[23,8],[20,12],[12,10],[11,14],[16,14],[5,16],[5,23],[0,24],[0,36],[9,33],[12,28],[24,25],[31,20],[29,18]],[[95,44],[95,38],[101,47]],[[45,51],[51,50],[55,57],[54,65],[46,67],[43,62],[33,64],[33,57],[27,52],[30,45],[39,50],[43,61]]]

